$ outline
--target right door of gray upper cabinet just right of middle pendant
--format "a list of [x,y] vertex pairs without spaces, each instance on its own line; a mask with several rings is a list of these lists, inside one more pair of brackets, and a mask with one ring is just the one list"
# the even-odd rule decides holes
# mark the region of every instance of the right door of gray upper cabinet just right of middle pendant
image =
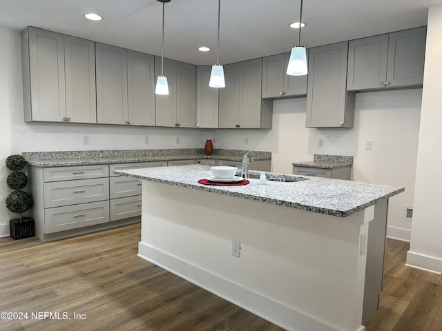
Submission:
[[262,58],[240,65],[240,126],[261,127]]

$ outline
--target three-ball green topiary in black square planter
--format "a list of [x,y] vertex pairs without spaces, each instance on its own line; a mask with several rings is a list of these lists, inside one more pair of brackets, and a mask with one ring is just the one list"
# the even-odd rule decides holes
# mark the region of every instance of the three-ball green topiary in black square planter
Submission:
[[26,160],[19,154],[10,155],[6,158],[6,167],[12,171],[6,178],[6,184],[12,191],[6,197],[6,208],[10,212],[20,214],[20,218],[10,219],[10,235],[13,239],[32,237],[35,235],[35,222],[30,217],[21,214],[32,207],[32,196],[22,188],[28,184],[28,177],[21,170],[26,166]]

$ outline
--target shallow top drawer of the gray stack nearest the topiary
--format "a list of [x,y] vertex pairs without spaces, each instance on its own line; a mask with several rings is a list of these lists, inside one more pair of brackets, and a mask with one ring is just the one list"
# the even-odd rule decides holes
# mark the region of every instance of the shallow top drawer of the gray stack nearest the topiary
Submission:
[[88,179],[109,177],[109,166],[105,165],[75,165],[72,167],[44,168],[43,180],[70,181],[72,179]]

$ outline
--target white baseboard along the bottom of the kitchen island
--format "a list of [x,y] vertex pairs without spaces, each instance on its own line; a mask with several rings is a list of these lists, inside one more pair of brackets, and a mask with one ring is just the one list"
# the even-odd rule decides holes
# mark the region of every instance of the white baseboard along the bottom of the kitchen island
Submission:
[[[198,265],[193,265],[173,257],[171,254],[157,250],[157,248],[153,248],[145,243],[138,243],[138,256],[285,330],[340,331],[332,325],[327,325],[322,321],[318,321],[318,319],[309,317],[307,314],[244,288],[244,286],[233,283],[229,279],[224,279],[218,274],[213,274],[209,270],[204,270]],[[364,330],[365,326],[361,325],[354,331]]]

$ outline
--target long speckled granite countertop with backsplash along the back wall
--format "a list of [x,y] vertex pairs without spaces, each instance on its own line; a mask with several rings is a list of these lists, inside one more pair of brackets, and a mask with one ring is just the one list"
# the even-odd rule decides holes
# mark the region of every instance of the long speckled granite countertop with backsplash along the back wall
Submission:
[[[213,154],[204,154],[202,148],[157,149],[157,150],[79,150],[59,152],[23,152],[28,164],[37,167],[63,167],[69,165],[94,165],[113,163],[135,163],[193,159],[218,159],[242,161],[244,150],[215,149]],[[253,151],[256,161],[271,160],[271,152]]]

